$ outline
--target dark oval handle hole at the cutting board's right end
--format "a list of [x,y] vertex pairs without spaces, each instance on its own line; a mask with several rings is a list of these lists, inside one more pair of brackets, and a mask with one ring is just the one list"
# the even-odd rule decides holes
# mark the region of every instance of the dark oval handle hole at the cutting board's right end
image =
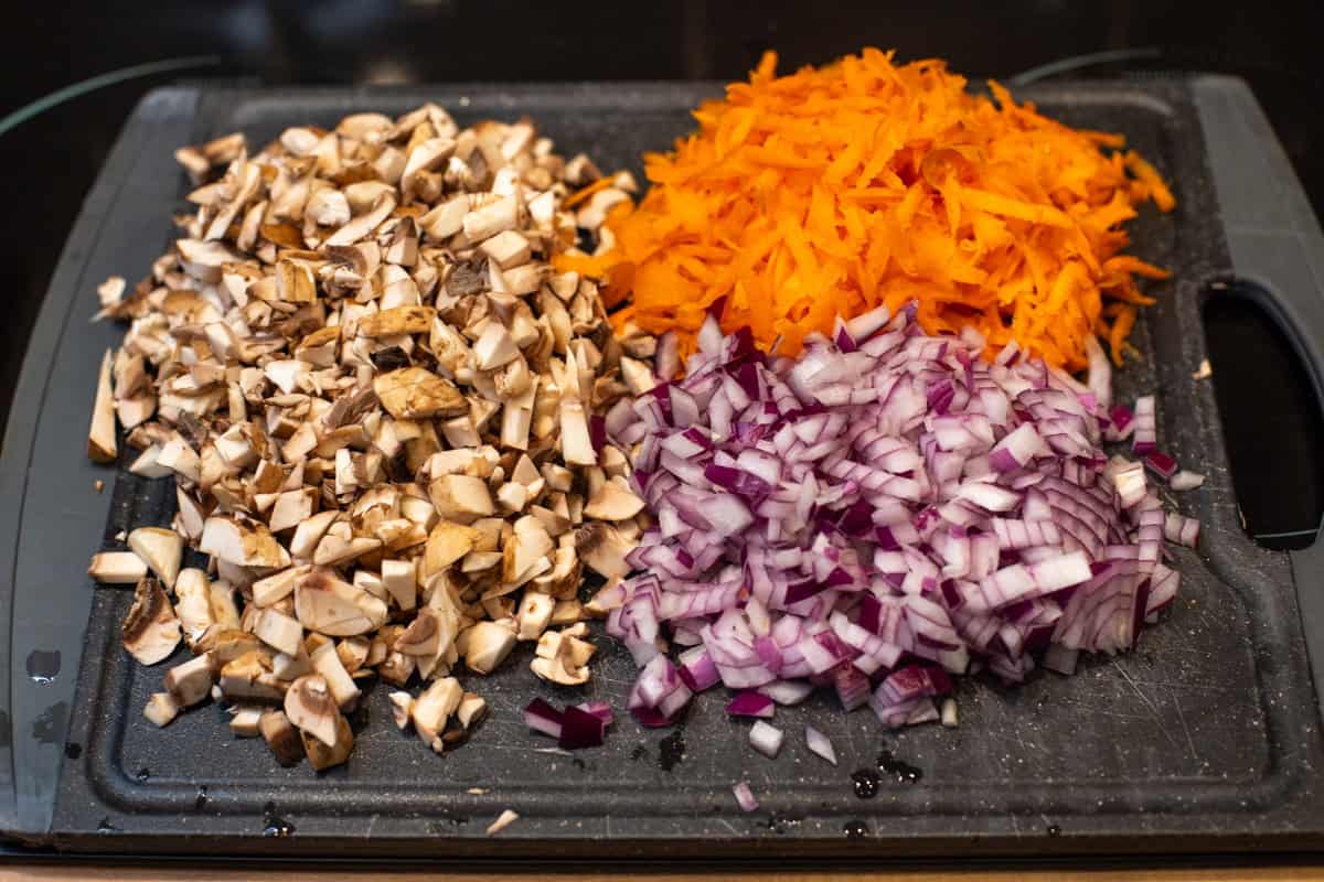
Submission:
[[1207,291],[1205,340],[1233,487],[1246,533],[1268,549],[1304,549],[1324,516],[1324,417],[1283,328],[1243,280]]

